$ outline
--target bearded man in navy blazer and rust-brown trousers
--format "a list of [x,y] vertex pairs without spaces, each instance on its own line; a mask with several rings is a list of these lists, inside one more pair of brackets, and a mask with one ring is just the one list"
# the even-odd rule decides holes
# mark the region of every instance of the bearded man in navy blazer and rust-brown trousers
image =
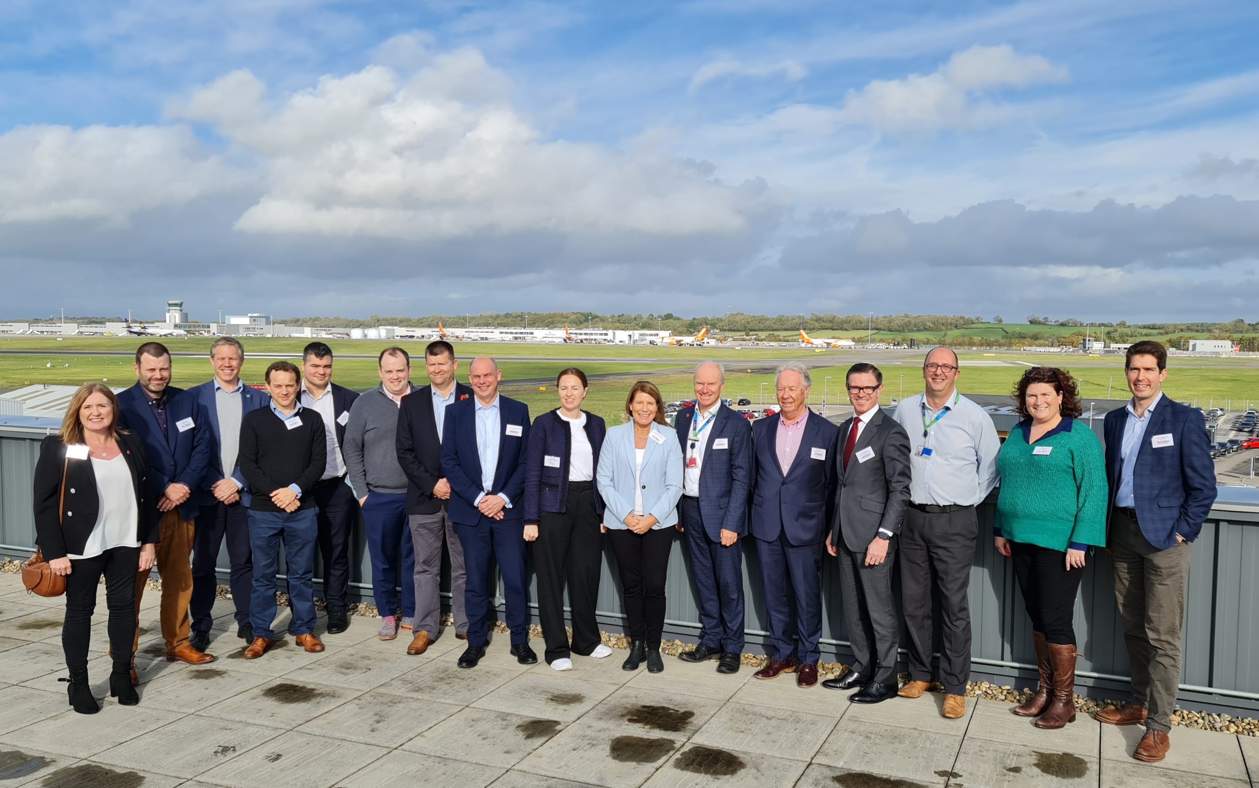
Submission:
[[[136,384],[118,394],[118,427],[140,436],[149,461],[149,482],[157,507],[157,574],[161,575],[161,634],[166,661],[190,665],[214,657],[189,644],[188,605],[193,598],[193,554],[199,507],[193,492],[210,458],[205,412],[196,398],[170,385],[170,351],[161,342],[136,349]],[[136,613],[149,570],[136,575]],[[135,648],[140,644],[136,632]],[[132,682],[136,675],[132,670]]]

